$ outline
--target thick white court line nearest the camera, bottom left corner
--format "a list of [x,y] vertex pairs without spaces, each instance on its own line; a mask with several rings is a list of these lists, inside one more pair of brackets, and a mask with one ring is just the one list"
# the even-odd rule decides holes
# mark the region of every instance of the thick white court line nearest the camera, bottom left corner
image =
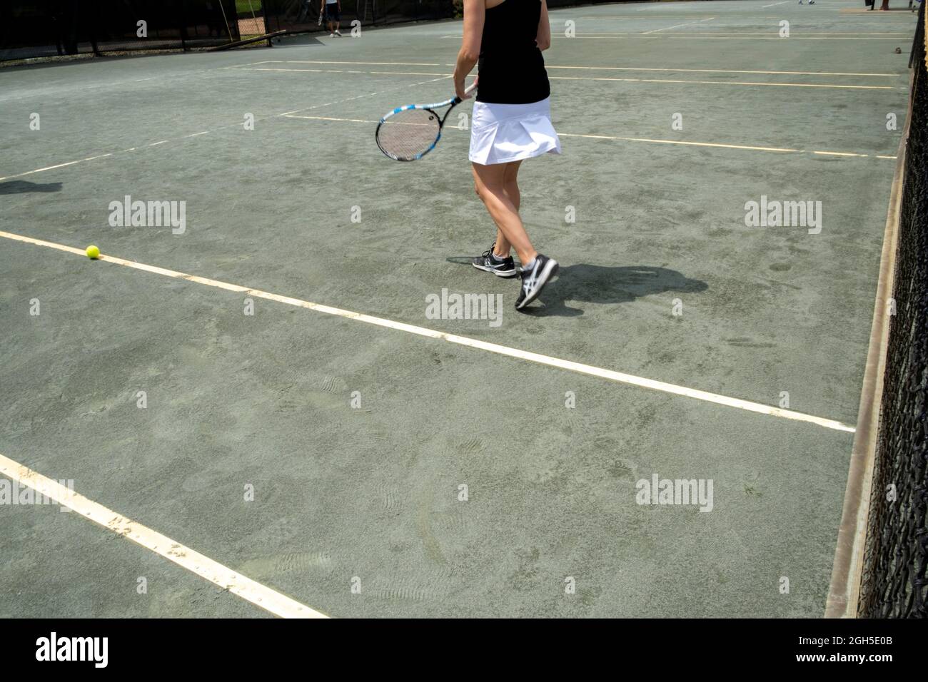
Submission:
[[329,616],[291,599],[267,585],[255,582],[240,573],[224,566],[218,561],[204,557],[200,552],[174,542],[170,537],[153,531],[137,521],[128,519],[112,509],[87,499],[84,495],[72,492],[57,481],[31,470],[19,462],[0,454],[0,474],[20,485],[26,485],[37,493],[58,502],[62,507],[70,508],[90,521],[103,526],[117,535],[132,540],[136,545],[161,555],[164,559],[174,561],[190,573],[219,585],[234,595],[250,601],[281,618],[328,618]]

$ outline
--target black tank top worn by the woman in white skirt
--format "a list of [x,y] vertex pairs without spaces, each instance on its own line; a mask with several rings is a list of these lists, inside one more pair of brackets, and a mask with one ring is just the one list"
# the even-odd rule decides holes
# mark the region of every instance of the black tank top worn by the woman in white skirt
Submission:
[[486,10],[477,101],[531,104],[551,94],[545,58],[535,45],[541,0],[503,0]]

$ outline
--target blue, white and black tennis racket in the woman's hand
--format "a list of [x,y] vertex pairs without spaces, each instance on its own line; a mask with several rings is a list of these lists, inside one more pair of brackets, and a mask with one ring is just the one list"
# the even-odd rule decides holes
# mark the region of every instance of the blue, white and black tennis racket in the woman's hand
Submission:
[[[477,84],[465,90],[470,93]],[[380,151],[395,161],[417,161],[428,154],[442,138],[442,127],[451,109],[461,103],[460,97],[452,97],[434,104],[407,104],[386,114],[377,124],[377,146]],[[445,116],[436,109],[447,107]]]

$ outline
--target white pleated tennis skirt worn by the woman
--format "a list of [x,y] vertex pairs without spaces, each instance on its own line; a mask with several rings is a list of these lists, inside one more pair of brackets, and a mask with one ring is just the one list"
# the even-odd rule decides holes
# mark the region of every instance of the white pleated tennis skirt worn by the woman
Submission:
[[473,103],[470,161],[486,166],[560,153],[550,97],[532,104]]

